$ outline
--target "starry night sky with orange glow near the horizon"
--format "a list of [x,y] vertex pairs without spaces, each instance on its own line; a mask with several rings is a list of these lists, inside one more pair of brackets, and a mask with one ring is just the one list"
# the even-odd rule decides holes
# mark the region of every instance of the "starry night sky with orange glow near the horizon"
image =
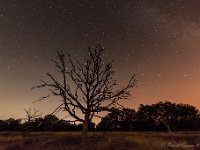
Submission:
[[55,73],[56,51],[74,60],[102,44],[120,85],[135,73],[137,88],[124,106],[158,101],[200,109],[199,0],[0,0],[0,119],[44,115],[59,104],[31,87]]

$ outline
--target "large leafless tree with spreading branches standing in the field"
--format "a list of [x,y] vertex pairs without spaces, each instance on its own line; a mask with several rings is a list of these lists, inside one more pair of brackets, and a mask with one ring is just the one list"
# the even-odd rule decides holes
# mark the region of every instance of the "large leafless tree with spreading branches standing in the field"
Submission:
[[[104,48],[98,45],[95,48],[89,47],[88,50],[89,57],[82,63],[77,61],[75,64],[68,54],[70,66],[66,66],[64,53],[57,52],[57,59],[53,62],[62,79],[59,81],[47,73],[50,82],[41,80],[41,85],[34,87],[46,87],[51,94],[61,97],[62,102],[55,111],[64,110],[74,121],[82,122],[83,137],[87,135],[88,124],[93,116],[97,116],[101,111],[109,111],[117,105],[121,106],[119,100],[130,96],[129,89],[134,87],[136,82],[133,75],[125,87],[116,88],[112,62],[105,63],[102,60]],[[70,80],[73,84],[69,84]],[[42,97],[41,100],[49,96]]]

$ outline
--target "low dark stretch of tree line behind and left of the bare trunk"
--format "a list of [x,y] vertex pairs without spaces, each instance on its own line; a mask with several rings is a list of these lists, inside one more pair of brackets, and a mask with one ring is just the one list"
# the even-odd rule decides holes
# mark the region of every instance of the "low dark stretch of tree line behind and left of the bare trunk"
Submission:
[[[31,121],[23,120],[13,118],[0,120],[0,131],[81,131],[83,127],[81,123],[73,124],[52,114]],[[91,122],[88,130],[94,131],[95,124]]]

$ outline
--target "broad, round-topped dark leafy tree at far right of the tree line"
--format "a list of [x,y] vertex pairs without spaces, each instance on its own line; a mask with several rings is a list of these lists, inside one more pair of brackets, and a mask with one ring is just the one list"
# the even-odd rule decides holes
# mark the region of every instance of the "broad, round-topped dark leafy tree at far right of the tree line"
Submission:
[[188,104],[158,102],[140,105],[138,112],[139,130],[198,130],[198,110]]

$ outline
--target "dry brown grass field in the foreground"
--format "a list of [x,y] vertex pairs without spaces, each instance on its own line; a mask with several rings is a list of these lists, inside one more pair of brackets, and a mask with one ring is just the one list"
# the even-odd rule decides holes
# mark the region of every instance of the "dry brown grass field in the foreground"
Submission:
[[[0,150],[79,150],[80,132],[1,132]],[[200,150],[200,132],[89,132],[88,150]]]

